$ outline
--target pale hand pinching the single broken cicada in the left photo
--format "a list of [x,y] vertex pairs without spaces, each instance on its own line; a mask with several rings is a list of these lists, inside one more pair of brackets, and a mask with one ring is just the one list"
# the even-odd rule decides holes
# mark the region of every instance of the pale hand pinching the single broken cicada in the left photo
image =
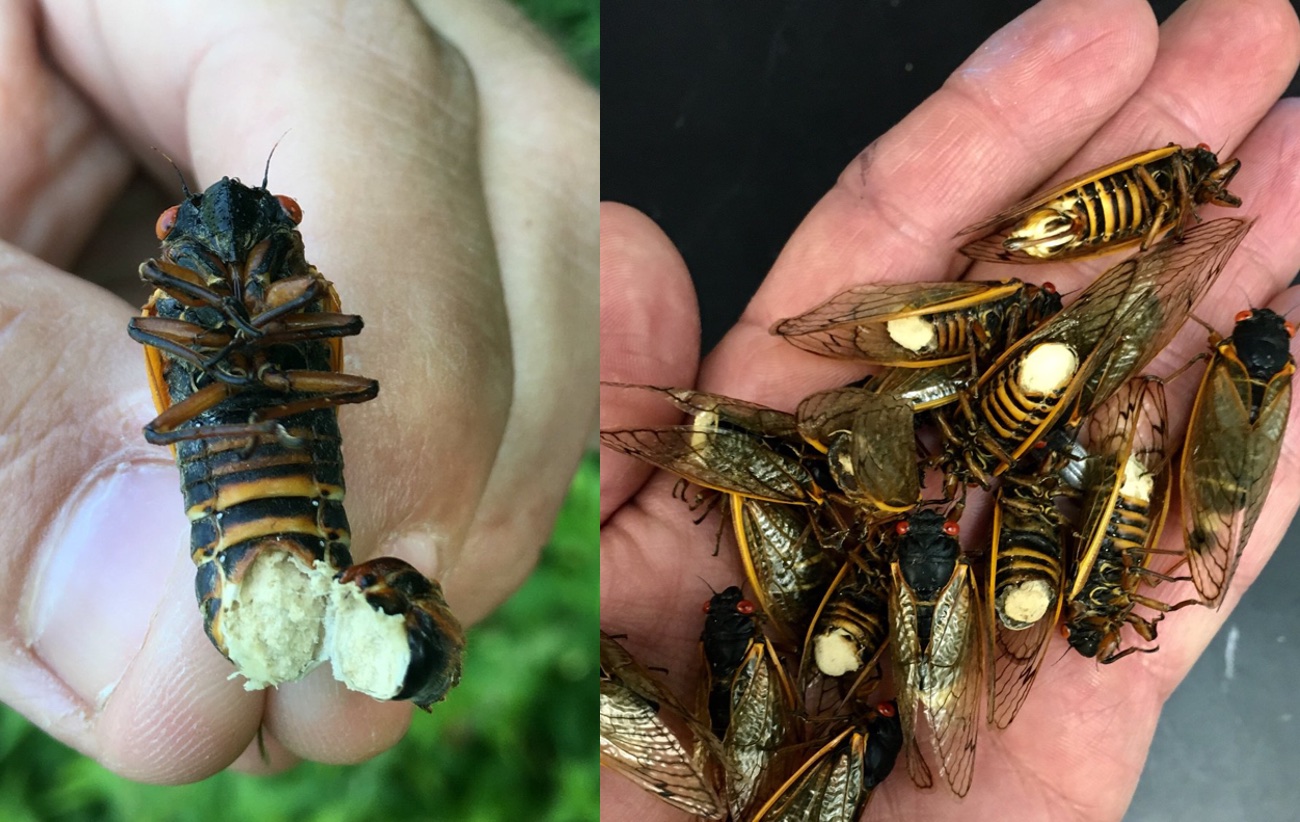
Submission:
[[[280,140],[269,187],[365,319],[346,369],[381,385],[339,415],[354,555],[439,577],[468,626],[532,570],[595,416],[597,107],[506,3],[3,4],[0,698],[147,782],[399,740],[410,705],[324,669],[257,692],[228,679],[172,457],[140,433],[139,306],[61,269],[138,166],[160,211],[179,202],[160,152],[202,191],[259,183]],[[81,267],[134,278],[142,259]],[[107,558],[96,584],[60,564],[60,535],[104,477],[120,485],[86,553]]]

